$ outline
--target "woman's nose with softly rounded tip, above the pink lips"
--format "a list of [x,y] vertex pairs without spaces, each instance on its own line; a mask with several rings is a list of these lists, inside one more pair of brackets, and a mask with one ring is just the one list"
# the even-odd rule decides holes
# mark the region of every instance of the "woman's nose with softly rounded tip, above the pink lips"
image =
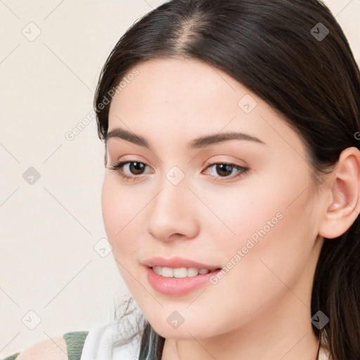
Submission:
[[195,238],[199,230],[196,201],[185,180],[174,185],[167,179],[149,207],[147,231],[158,240]]

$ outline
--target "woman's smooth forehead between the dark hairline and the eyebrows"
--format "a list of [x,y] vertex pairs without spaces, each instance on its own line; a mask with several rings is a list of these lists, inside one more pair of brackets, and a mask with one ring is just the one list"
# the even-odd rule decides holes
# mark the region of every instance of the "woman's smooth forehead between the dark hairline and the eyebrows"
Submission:
[[[136,76],[129,77],[131,72]],[[203,61],[148,60],[124,79],[126,86],[110,104],[109,131],[122,127],[167,146],[198,134],[242,131],[302,152],[299,136],[269,104]]]

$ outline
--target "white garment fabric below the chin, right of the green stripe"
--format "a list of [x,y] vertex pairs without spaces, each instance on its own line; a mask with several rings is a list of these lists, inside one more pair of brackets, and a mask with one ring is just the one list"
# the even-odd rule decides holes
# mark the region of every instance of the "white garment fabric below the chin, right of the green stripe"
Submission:
[[137,360],[139,359],[141,335],[133,340],[133,331],[119,340],[117,323],[108,323],[89,331],[82,349],[80,360]]

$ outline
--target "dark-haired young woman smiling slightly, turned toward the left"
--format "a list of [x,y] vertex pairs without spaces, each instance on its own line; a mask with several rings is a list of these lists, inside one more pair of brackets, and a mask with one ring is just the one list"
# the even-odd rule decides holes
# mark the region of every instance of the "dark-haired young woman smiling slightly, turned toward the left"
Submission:
[[[169,1],[116,44],[95,109],[141,313],[65,334],[70,359],[360,359],[360,74],[324,4]],[[68,358],[51,348],[32,352]]]

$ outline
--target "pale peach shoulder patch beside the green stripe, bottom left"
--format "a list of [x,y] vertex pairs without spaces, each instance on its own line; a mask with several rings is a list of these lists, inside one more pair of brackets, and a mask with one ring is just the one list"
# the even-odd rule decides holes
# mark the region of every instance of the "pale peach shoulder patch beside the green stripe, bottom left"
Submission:
[[28,347],[16,357],[16,360],[68,360],[68,350],[62,337],[44,340]]

